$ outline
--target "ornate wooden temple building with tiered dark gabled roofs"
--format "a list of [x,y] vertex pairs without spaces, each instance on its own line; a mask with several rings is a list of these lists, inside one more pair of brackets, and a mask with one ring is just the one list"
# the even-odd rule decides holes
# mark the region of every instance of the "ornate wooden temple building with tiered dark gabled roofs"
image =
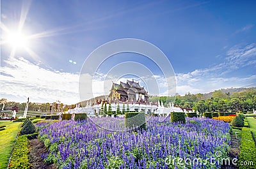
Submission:
[[126,83],[120,82],[120,84],[113,83],[109,98],[111,101],[129,101],[129,102],[148,102],[148,92],[144,87],[141,87],[139,82],[127,80]]

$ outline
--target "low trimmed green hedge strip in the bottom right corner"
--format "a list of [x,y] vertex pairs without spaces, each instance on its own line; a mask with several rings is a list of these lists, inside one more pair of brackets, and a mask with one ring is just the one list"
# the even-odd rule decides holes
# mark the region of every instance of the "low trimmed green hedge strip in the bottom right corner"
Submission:
[[[242,129],[242,140],[241,140],[241,145],[240,145],[240,154],[239,154],[239,169],[254,169],[256,168],[256,147],[255,147],[255,142],[253,140],[252,133],[249,128],[243,128]],[[241,162],[244,163],[244,161],[252,161],[253,165],[240,165]]]

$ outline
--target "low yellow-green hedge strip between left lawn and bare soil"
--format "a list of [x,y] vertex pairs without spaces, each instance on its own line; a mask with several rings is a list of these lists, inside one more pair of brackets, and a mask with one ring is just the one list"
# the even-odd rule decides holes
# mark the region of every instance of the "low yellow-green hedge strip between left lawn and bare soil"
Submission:
[[13,148],[12,158],[10,160],[10,169],[12,168],[30,168],[28,155],[28,138],[26,135],[19,136]]

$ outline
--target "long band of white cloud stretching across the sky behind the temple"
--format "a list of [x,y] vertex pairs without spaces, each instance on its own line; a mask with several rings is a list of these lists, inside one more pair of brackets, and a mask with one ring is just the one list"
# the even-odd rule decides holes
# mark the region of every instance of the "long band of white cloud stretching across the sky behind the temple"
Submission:
[[[104,75],[95,73],[92,75],[79,73],[67,73],[63,71],[43,68],[42,63],[31,63],[26,59],[10,58],[4,61],[6,66],[0,68],[1,94],[31,98],[35,102],[52,102],[60,100],[62,103],[72,104],[81,100],[90,99],[95,96],[109,94],[112,80],[126,82],[127,78],[111,74]],[[225,60],[210,68],[195,70],[189,73],[177,73],[174,77],[163,77],[163,75],[138,75],[134,81],[145,85],[150,94],[170,95],[210,92],[215,89],[227,87],[241,87],[255,84],[256,75],[246,75],[243,78],[228,77],[227,73],[239,70],[245,66],[256,65],[256,44],[252,43],[246,47],[235,46],[227,52]],[[121,72],[122,74],[122,72]],[[134,74],[136,75],[136,74]],[[79,81],[80,80],[80,81]],[[129,78],[132,80],[132,78]],[[172,87],[168,87],[167,81]],[[90,84],[92,83],[92,84]],[[176,91],[175,85],[177,84]],[[80,90],[79,90],[80,87]],[[169,88],[169,89],[168,89]],[[90,89],[90,90],[88,90]],[[8,98],[12,100],[12,98]]]

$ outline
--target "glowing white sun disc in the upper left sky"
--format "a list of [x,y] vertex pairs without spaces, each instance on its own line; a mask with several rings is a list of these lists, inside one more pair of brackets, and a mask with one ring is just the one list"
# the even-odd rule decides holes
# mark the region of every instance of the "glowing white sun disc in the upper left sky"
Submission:
[[10,31],[6,38],[6,43],[13,48],[27,48],[28,42],[28,36],[20,31]]

